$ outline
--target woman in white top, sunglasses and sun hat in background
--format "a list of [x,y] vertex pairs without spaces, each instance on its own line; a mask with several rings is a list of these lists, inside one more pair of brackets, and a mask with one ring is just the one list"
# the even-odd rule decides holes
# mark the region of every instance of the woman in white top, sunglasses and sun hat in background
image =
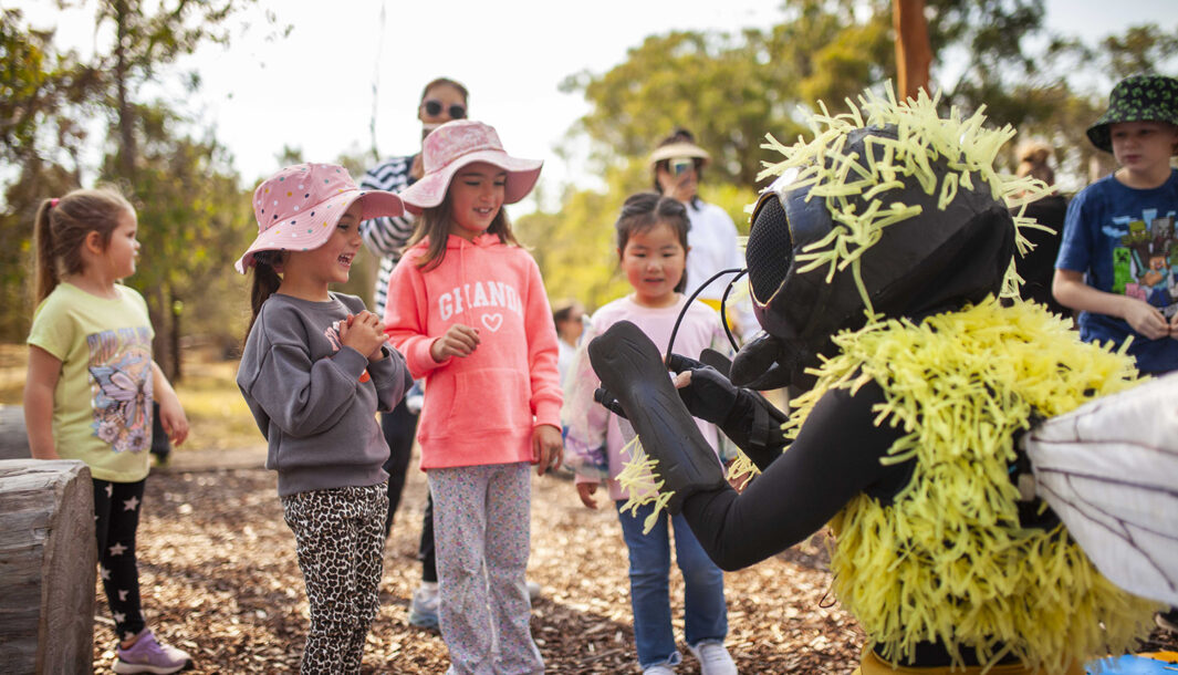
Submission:
[[[695,145],[695,137],[686,128],[676,128],[650,153],[655,191],[682,201],[691,221],[687,234],[691,251],[687,257],[684,293],[688,297],[716,272],[744,267],[733,219],[723,209],[704,203],[696,193],[703,167],[709,160],[707,151]],[[699,299],[720,310],[724,289],[732,278],[729,274],[716,279],[700,292]],[[740,333],[741,326],[755,326],[747,307],[733,311],[729,306],[727,317],[735,333]]]

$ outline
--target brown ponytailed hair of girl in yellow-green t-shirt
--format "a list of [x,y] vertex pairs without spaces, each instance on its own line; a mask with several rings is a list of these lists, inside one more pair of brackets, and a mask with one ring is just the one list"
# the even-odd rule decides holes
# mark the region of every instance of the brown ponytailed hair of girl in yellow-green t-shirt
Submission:
[[35,292],[40,304],[65,276],[80,274],[81,247],[98,232],[102,250],[119,226],[119,217],[134,207],[114,186],[74,190],[60,199],[45,199],[37,210],[33,241],[37,251]]

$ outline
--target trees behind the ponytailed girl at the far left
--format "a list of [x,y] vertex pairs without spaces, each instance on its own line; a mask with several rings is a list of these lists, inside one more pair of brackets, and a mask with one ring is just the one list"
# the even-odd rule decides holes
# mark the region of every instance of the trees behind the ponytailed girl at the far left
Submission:
[[[27,252],[37,205],[78,187],[84,170],[120,185],[138,205],[144,243],[139,272],[130,283],[145,291],[157,329],[157,358],[173,376],[179,373],[181,317],[200,317],[201,329],[220,333],[234,325],[231,316],[204,300],[223,290],[221,299],[243,297],[240,280],[218,279],[232,278],[226,267],[243,238],[249,240],[252,218],[224,148],[184,131],[191,125],[179,112],[181,104],[135,97],[146,85],[171,77],[181,55],[205,42],[224,42],[230,37],[226,20],[253,2],[60,1],[62,8],[93,6],[97,25],[114,28],[115,39],[86,64],[58,52],[52,32],[22,26],[19,12],[5,11],[0,22],[0,68],[12,75],[5,80],[11,95],[0,104],[0,138],[6,141],[5,158],[19,163],[5,191],[0,240],[13,244],[6,251]],[[186,82],[194,88],[199,78],[191,75]],[[108,152],[97,167],[79,160],[86,127],[75,121],[94,117],[108,123]],[[6,298],[25,292],[31,265],[5,266],[9,269],[18,273],[4,278]],[[200,311],[180,311],[184,306]],[[15,319],[6,315],[4,337],[24,338],[28,313]]]

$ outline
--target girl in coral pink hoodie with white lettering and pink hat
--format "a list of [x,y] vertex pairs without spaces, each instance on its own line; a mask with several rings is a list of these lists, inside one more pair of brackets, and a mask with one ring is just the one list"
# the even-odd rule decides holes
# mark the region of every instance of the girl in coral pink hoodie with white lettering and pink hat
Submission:
[[536,262],[504,204],[542,163],[509,157],[495,130],[446,123],[425,176],[401,192],[421,213],[389,282],[385,325],[425,378],[417,439],[434,496],[438,618],[450,671],[543,673],[524,581],[531,483],[560,465],[556,330]]

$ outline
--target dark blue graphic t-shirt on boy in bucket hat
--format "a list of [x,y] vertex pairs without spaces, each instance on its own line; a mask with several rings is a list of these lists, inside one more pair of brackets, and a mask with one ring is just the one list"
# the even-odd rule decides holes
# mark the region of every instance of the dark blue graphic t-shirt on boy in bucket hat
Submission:
[[[1157,307],[1170,320],[1178,312],[1178,171],[1152,190],[1126,187],[1112,176],[1072,200],[1055,267],[1085,272],[1086,283]],[[1146,372],[1178,369],[1178,340],[1149,340],[1123,319],[1080,312],[1080,337],[1120,345],[1133,335],[1130,353]]]

